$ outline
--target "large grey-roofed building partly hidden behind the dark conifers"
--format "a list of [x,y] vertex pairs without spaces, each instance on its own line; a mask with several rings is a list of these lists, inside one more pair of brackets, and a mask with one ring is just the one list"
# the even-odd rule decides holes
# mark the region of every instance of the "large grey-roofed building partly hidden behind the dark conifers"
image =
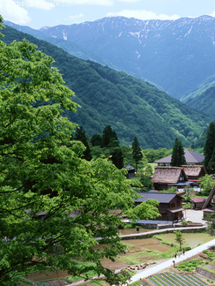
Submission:
[[[184,156],[188,165],[202,165],[203,160],[205,159],[204,155],[184,149]],[[171,155],[166,156],[162,159],[155,161],[158,166],[170,166]]]

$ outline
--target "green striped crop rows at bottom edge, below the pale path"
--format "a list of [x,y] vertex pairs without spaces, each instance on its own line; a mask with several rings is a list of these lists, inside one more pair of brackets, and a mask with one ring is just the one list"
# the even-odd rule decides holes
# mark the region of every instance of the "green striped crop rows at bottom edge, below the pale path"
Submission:
[[161,273],[148,278],[156,286],[207,286],[195,275]]

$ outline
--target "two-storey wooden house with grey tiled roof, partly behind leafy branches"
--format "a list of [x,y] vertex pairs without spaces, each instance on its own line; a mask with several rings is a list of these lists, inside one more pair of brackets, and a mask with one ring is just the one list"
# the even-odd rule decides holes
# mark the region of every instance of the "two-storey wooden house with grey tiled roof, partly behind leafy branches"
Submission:
[[158,211],[161,214],[155,219],[141,219],[137,222],[138,224],[173,224],[183,217],[182,196],[176,193],[138,192],[138,194],[143,197],[133,199],[135,206],[149,199],[154,199],[159,202]]

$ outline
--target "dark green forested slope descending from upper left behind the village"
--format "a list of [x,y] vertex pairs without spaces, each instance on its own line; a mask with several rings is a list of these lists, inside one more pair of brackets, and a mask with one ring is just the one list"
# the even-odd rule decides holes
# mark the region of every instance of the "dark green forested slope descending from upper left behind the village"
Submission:
[[10,43],[27,38],[38,50],[55,59],[55,67],[75,92],[77,113],[66,116],[91,137],[106,125],[116,130],[120,145],[134,137],[142,149],[171,148],[176,136],[184,146],[195,143],[211,121],[155,86],[92,61],[75,58],[62,49],[31,35],[6,27],[3,40]]

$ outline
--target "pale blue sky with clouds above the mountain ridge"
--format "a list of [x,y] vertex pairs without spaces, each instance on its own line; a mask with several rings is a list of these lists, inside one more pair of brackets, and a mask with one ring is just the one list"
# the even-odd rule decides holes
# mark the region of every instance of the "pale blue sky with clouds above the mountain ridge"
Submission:
[[39,29],[106,16],[148,19],[215,17],[215,0],[0,0],[5,20]]

